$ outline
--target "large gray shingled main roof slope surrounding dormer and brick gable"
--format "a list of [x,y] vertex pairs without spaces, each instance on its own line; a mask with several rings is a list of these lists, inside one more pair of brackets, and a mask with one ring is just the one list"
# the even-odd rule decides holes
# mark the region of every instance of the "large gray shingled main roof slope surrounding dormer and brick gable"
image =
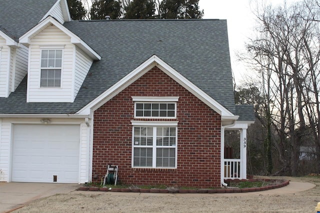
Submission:
[[91,20],[64,26],[102,57],[93,62],[74,103],[25,103],[25,78],[8,98],[0,98],[0,113],[75,113],[156,55],[235,114],[226,20]]

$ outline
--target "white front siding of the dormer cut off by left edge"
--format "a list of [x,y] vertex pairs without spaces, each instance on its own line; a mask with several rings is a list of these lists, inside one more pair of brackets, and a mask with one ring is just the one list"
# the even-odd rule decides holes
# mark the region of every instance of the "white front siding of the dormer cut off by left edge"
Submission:
[[9,52],[10,48],[5,45],[5,40],[0,37],[0,97],[8,96],[9,81]]

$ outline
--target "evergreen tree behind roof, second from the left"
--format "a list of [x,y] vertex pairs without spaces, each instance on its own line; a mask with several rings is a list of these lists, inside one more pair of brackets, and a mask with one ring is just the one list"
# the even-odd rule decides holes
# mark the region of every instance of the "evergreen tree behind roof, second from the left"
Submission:
[[91,20],[105,19],[109,15],[111,19],[121,17],[121,3],[118,0],[94,0],[90,9]]

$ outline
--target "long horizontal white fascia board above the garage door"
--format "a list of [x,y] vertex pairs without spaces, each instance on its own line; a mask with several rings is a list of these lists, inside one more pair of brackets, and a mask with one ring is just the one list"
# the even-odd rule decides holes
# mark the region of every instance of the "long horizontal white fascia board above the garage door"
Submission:
[[83,114],[0,114],[0,118],[89,118]]

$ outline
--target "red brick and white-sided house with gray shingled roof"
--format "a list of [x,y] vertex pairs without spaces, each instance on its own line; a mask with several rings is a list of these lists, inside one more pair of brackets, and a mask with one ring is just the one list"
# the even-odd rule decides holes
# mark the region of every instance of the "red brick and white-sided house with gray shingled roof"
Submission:
[[[71,21],[66,0],[0,5],[0,181],[100,182],[108,164],[135,185],[246,178],[253,107],[234,104],[226,20]],[[234,129],[240,158],[224,159]]]

